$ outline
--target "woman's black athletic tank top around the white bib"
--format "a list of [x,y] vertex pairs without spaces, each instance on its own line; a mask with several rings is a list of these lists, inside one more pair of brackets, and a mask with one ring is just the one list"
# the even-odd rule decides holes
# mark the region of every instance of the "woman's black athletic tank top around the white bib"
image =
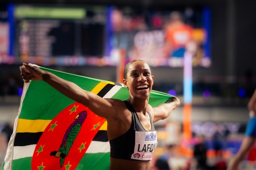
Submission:
[[[131,159],[131,155],[134,153],[135,131],[147,131],[141,125],[139,116],[137,115],[134,108],[130,105],[128,101],[124,101],[124,102],[128,110],[131,111],[132,120],[131,120],[131,127],[126,133],[116,137],[115,139],[109,140],[110,156],[116,159]],[[150,124],[151,124],[151,130],[149,131],[155,131],[150,113],[148,113],[148,115],[149,115]]]

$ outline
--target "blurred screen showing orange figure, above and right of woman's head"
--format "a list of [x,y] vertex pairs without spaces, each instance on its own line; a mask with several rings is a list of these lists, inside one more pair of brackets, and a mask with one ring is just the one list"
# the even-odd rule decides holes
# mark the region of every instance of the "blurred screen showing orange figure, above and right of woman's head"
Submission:
[[193,46],[194,66],[208,67],[211,63],[208,8],[113,8],[111,23],[112,50],[125,49],[129,60],[181,67],[185,51]]

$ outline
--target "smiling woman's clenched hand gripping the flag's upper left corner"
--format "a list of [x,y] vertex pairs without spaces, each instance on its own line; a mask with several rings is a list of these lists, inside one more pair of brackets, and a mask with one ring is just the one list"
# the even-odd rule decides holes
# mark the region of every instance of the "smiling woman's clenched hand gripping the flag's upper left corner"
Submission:
[[29,82],[30,80],[42,80],[44,71],[37,66],[23,63],[20,66],[20,75],[23,82]]

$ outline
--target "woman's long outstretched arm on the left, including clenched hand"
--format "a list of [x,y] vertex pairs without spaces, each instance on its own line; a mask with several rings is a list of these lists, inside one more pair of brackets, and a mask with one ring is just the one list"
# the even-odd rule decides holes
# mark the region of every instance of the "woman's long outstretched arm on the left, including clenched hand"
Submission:
[[85,91],[73,82],[62,79],[48,71],[41,70],[37,66],[23,63],[20,66],[20,72],[24,82],[44,80],[68,98],[87,106],[91,111],[106,119],[111,114],[116,113],[112,105],[113,99],[103,99],[90,91]]

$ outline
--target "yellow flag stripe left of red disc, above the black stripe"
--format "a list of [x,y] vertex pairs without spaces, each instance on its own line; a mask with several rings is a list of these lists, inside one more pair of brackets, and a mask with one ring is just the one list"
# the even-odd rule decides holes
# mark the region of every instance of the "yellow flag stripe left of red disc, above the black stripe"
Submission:
[[20,133],[44,132],[45,128],[51,121],[52,120],[42,120],[42,119],[37,119],[37,120],[18,119],[17,133],[19,133],[19,132]]

